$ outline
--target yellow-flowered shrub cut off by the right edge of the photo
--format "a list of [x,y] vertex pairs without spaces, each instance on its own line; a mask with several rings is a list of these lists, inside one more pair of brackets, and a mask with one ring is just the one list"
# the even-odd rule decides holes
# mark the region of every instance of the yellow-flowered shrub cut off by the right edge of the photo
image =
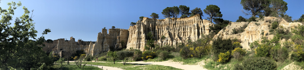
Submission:
[[297,61],[304,61],[304,47],[303,45],[295,45],[292,52],[292,58]]

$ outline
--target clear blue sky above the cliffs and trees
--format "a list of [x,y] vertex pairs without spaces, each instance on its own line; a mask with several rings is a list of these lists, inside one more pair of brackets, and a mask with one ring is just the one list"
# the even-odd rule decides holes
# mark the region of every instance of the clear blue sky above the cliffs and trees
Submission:
[[[103,27],[129,29],[130,22],[137,22],[140,16],[151,18],[151,13],[159,14],[159,19],[164,19],[161,14],[164,8],[179,5],[186,5],[190,10],[196,7],[203,10],[207,5],[217,5],[223,14],[222,18],[232,22],[239,16],[250,17],[241,12],[243,6],[240,0],[2,0],[0,7],[7,9],[7,3],[12,1],[22,3],[15,11],[14,18],[23,14],[23,6],[34,10],[33,20],[39,32],[38,37],[44,29],[50,28],[51,32],[44,36],[52,40],[69,40],[73,36],[76,40],[96,41]],[[304,0],[284,1],[288,3],[286,14],[292,16],[292,19],[304,14]],[[203,15],[202,19],[205,19],[207,15]]]

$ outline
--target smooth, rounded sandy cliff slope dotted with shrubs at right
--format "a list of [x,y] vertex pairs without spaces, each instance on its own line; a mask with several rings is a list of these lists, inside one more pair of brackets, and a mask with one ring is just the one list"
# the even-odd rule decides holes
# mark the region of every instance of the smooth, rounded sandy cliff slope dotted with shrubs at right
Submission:
[[[256,19],[256,20],[259,20]],[[223,39],[239,39],[242,42],[240,43],[244,49],[249,50],[249,44],[254,42],[254,41],[261,41],[261,38],[268,37],[268,39],[273,38],[274,35],[271,35],[269,32],[271,28],[271,23],[278,21],[279,27],[283,27],[286,30],[291,31],[291,28],[294,28],[295,26],[302,25],[302,23],[299,22],[286,22],[284,19],[276,18],[276,17],[264,17],[264,19],[259,20],[258,22],[232,22],[230,25],[226,26],[226,29],[222,29],[219,31],[217,35],[214,36],[214,38],[223,37]],[[248,24],[249,23],[249,24]],[[240,28],[243,25],[247,25],[245,27],[244,32],[238,33],[238,34],[233,34],[233,29],[234,28]],[[256,25],[260,24],[260,25]],[[285,40],[285,39],[283,39]]]

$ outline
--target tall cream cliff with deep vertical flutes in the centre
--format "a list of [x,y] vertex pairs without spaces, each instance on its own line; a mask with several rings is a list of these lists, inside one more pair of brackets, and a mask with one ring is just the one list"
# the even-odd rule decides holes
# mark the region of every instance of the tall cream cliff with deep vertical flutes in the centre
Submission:
[[[143,51],[148,32],[152,32],[154,42],[157,44],[174,46],[187,40],[195,41],[201,38],[201,35],[209,34],[209,26],[213,26],[213,23],[202,19],[200,15],[166,19],[144,17],[143,21],[130,26],[127,49],[134,48]],[[165,36],[165,39],[161,39],[161,36]]]

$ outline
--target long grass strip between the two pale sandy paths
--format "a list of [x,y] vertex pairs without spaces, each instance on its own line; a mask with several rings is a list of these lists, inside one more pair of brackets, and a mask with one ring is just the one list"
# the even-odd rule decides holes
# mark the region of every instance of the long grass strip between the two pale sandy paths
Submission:
[[[87,62],[88,65],[102,65],[102,66],[109,66],[109,67],[116,67],[116,68],[122,68],[125,70],[182,70],[179,68],[174,68],[171,66],[163,66],[163,65],[144,65],[144,64],[131,64],[126,63],[123,65],[123,63],[108,63],[108,62]],[[75,62],[71,62],[71,64],[75,64]]]

